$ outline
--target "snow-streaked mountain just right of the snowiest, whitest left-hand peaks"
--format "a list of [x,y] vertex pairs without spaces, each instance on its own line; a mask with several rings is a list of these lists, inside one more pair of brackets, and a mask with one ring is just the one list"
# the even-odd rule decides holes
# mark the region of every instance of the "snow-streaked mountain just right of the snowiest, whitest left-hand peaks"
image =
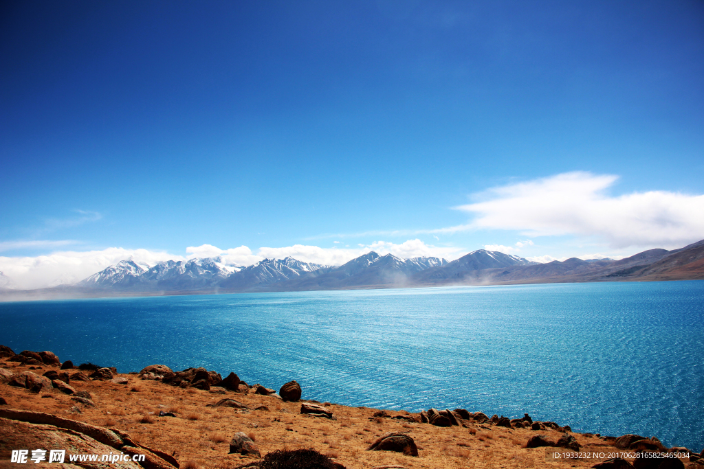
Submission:
[[291,278],[298,278],[330,268],[312,262],[301,262],[292,257],[286,259],[264,259],[238,272],[230,274],[220,283],[225,290],[242,290],[270,285]]

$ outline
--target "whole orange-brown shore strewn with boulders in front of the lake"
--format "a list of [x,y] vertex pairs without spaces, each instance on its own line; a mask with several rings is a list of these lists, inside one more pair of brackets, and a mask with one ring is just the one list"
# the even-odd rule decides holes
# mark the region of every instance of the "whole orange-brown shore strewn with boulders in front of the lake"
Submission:
[[339,406],[304,391],[295,380],[276,390],[205,368],[118,373],[0,345],[0,468],[23,467],[10,462],[13,450],[38,448],[144,456],[63,464],[82,468],[704,469],[704,454],[657,437],[582,434],[527,413]]

